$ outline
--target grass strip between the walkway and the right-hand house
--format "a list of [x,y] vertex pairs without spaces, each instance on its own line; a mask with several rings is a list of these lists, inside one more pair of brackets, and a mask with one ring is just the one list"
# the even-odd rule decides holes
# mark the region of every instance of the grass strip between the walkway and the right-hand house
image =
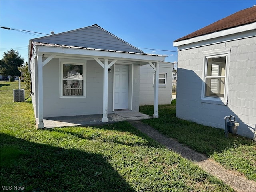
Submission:
[[[159,106],[158,119],[143,120],[143,122],[256,182],[255,142],[233,134],[225,138],[223,129],[181,120],[175,117],[175,110],[176,100],[173,100],[170,105]],[[153,115],[154,106],[140,106],[140,112]]]

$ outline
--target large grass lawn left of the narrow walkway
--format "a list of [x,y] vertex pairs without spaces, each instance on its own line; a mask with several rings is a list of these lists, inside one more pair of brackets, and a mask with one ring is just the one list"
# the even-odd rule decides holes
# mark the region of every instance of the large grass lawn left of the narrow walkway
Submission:
[[0,83],[1,191],[234,191],[128,122],[36,130],[18,82]]

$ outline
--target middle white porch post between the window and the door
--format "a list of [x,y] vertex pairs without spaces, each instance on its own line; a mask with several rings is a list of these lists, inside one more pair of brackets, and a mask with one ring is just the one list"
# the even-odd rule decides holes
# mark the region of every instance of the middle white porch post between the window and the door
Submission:
[[103,68],[103,116],[102,122],[108,122],[108,58],[104,58]]

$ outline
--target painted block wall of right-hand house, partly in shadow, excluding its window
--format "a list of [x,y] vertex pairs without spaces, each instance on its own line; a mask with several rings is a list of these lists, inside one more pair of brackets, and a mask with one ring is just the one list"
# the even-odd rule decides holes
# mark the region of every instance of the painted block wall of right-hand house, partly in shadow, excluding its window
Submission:
[[[253,137],[256,124],[256,37],[178,52],[176,116],[225,129],[224,117],[235,115],[238,134]],[[202,103],[205,52],[229,50],[228,105]]]

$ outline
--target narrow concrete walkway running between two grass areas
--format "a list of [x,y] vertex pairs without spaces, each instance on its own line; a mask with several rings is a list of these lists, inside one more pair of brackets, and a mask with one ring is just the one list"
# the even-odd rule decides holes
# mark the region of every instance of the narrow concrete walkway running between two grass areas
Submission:
[[217,164],[213,160],[208,159],[203,154],[183,146],[176,140],[164,136],[154,128],[143,124],[140,121],[133,121],[130,123],[132,126],[147,134],[152,139],[158,141],[160,144],[163,144],[170,150],[179,153],[182,157],[195,162],[195,164],[197,164],[200,168],[209,174],[216,176],[237,192],[256,192],[256,183],[248,180],[238,172],[226,170],[223,166]]

